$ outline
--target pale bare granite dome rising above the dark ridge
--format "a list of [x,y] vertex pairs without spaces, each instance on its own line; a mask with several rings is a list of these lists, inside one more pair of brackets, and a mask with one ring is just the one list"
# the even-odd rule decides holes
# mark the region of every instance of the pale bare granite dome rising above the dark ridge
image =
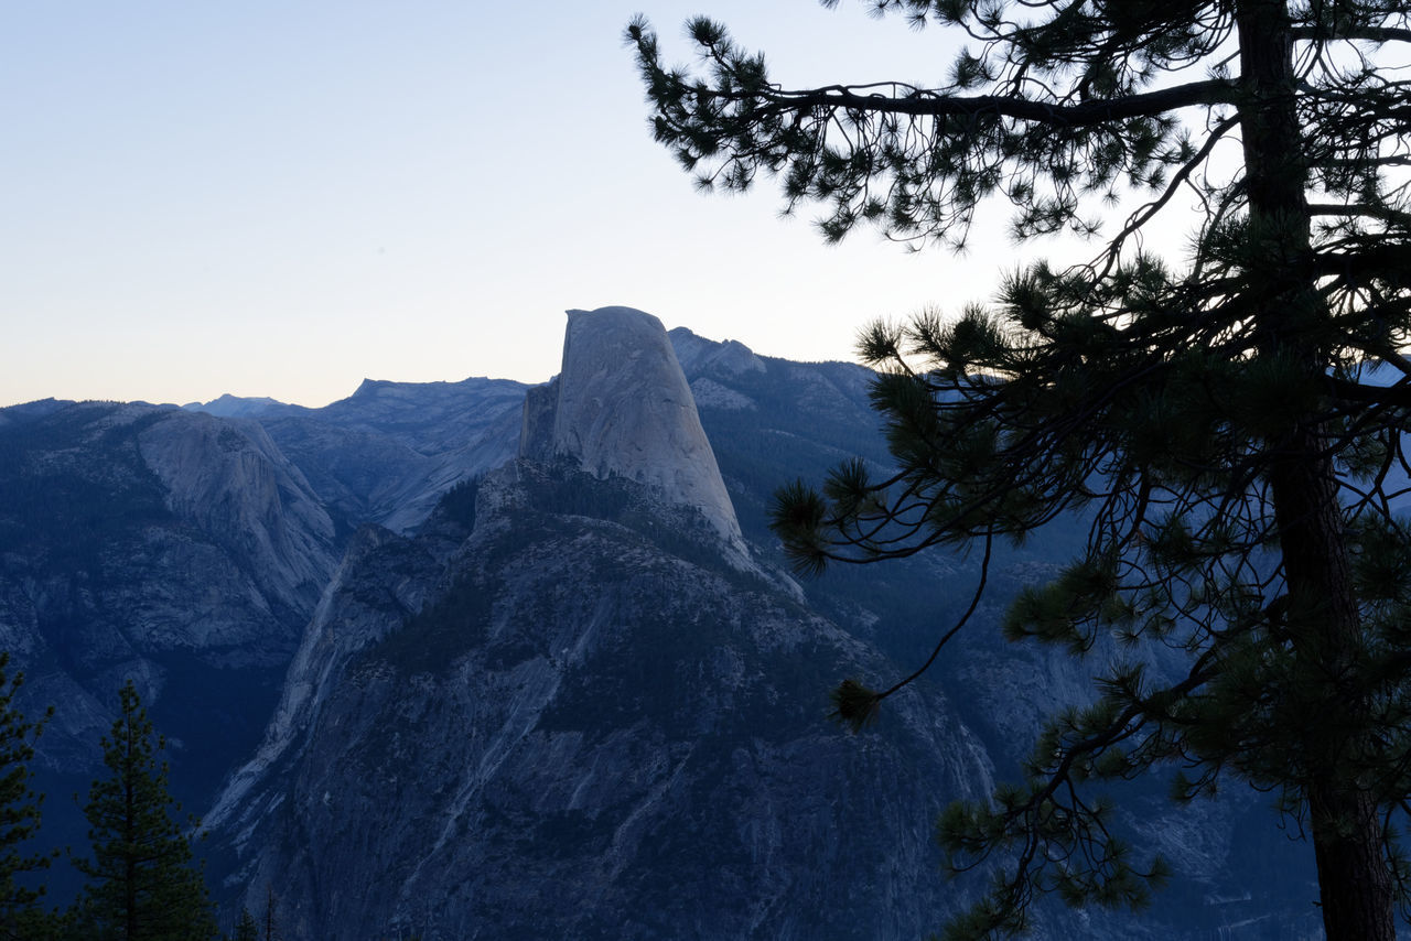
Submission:
[[618,475],[697,508],[745,554],[691,387],[662,322],[632,308],[569,310],[563,370],[525,405],[521,457],[571,457],[600,480]]

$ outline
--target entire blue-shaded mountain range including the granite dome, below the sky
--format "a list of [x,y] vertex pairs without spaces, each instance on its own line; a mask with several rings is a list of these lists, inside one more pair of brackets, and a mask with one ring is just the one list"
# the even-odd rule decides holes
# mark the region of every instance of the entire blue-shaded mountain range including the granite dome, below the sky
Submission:
[[[291,941],[924,935],[976,887],[937,873],[934,814],[1091,696],[993,629],[1081,533],[1006,549],[945,663],[831,725],[828,688],[910,672],[976,576],[786,571],[773,490],[888,464],[869,382],[605,309],[542,387],[0,409],[0,645],[56,707],[45,838],[82,834],[66,794],[134,677],[224,910],[272,889]],[[1122,803],[1177,865],[1156,909],[1048,906],[1037,937],[1319,935],[1259,800],[1164,790]]]

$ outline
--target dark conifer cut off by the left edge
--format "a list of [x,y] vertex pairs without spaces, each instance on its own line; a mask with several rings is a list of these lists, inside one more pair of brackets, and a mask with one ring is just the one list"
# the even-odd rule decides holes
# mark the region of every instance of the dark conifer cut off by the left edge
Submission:
[[49,868],[51,855],[31,852],[30,841],[40,828],[44,797],[30,789],[34,742],[54,710],[38,722],[25,721],[16,705],[24,674],[6,674],[10,655],[0,653],[0,940],[40,937],[47,917],[38,901],[44,887],[21,885],[20,876]]

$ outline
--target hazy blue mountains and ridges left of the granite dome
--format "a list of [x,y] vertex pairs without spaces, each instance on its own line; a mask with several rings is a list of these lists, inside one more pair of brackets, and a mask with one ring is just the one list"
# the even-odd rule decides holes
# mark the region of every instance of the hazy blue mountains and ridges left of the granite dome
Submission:
[[[0,645],[49,790],[86,787],[127,677],[209,803],[255,743],[350,535],[413,528],[515,453],[523,389],[365,381],[323,409],[45,399],[0,409]],[[257,419],[244,416],[258,416]],[[52,825],[82,834],[76,808]]]

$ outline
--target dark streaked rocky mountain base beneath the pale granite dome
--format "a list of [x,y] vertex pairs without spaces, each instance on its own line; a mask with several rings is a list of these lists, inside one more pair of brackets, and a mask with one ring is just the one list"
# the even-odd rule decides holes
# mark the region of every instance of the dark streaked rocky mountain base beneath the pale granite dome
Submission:
[[662,511],[643,484],[518,461],[444,567],[399,569],[443,554],[425,535],[370,546],[207,815],[231,886],[251,906],[277,886],[289,938],[933,927],[924,821],[982,793],[983,749],[935,690],[841,734],[828,677],[893,667]]

